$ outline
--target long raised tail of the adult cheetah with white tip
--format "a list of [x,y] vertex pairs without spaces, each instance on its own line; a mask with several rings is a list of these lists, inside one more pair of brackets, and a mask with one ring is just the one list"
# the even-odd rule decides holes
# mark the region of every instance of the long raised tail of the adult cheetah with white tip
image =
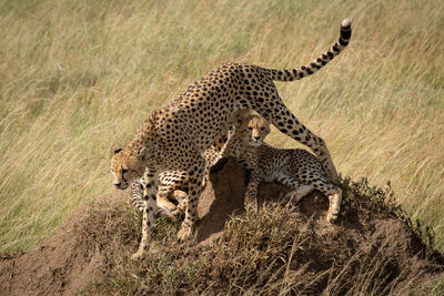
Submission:
[[341,34],[336,43],[331,47],[326,52],[319,55],[314,61],[306,65],[302,65],[296,69],[289,70],[275,70],[275,69],[264,69],[273,80],[276,81],[293,81],[303,79],[304,76],[311,75],[321,68],[323,68],[327,62],[333,60],[337,54],[340,54],[346,45],[349,45],[350,38],[352,37],[352,27],[350,19],[345,19],[341,23]]

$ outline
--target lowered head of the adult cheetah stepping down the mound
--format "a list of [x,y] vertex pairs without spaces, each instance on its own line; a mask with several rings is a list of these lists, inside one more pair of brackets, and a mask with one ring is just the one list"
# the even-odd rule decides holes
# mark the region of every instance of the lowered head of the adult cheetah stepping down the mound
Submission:
[[125,190],[128,185],[141,177],[145,166],[143,165],[144,150],[123,150],[119,146],[113,149],[110,171],[114,177],[113,184],[118,190]]

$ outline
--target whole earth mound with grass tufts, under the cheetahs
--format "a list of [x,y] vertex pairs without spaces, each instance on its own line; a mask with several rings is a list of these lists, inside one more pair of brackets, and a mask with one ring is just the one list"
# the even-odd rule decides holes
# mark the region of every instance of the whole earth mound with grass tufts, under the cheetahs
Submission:
[[261,185],[262,210],[245,214],[245,173],[225,160],[213,167],[201,196],[195,242],[179,244],[180,224],[158,220],[141,262],[129,259],[140,238],[140,214],[128,204],[129,193],[103,195],[79,208],[39,248],[2,258],[0,294],[426,290],[423,282],[443,271],[441,254],[396,207],[366,196],[377,197],[380,191],[344,186],[335,225],[325,221],[329,205],[320,193],[281,206],[280,196],[289,190],[275,184]]

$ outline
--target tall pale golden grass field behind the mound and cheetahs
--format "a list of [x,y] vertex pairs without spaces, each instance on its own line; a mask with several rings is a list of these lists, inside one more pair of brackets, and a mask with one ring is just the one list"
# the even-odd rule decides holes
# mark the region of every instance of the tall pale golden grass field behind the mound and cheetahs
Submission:
[[111,146],[188,84],[230,61],[304,64],[346,17],[345,52],[280,93],[339,172],[391,181],[444,251],[443,12],[438,0],[0,0],[0,253],[111,192]]

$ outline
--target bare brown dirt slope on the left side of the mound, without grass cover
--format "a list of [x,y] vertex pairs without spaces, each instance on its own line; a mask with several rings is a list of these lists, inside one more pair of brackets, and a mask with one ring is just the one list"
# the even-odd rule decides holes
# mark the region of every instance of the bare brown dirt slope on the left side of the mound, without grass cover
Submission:
[[94,278],[102,262],[100,249],[92,244],[94,238],[84,242],[81,229],[99,226],[89,225],[92,208],[104,203],[109,207],[122,207],[124,198],[125,194],[121,193],[101,196],[79,208],[39,248],[3,258],[0,263],[0,294],[72,294],[84,288]]

